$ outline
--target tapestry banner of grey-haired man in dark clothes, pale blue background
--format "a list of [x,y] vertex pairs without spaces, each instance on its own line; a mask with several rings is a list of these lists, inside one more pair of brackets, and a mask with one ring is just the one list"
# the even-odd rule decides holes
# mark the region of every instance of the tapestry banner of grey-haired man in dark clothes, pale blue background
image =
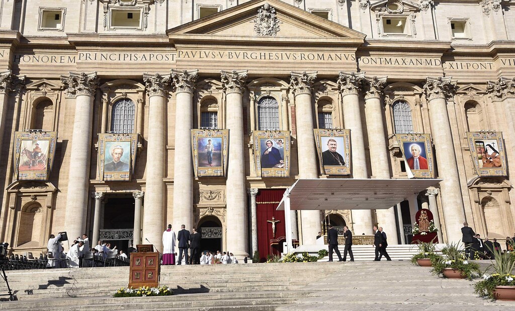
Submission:
[[100,180],[128,181],[134,173],[139,134],[98,134]]

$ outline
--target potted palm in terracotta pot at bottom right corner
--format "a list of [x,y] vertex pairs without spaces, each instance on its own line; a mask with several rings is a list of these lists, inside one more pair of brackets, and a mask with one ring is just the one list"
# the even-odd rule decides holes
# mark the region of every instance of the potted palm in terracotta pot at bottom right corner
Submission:
[[[495,261],[485,270],[483,280],[474,285],[475,293],[479,297],[494,300],[515,301],[515,256],[509,252],[491,249]],[[491,270],[495,273],[489,274]]]

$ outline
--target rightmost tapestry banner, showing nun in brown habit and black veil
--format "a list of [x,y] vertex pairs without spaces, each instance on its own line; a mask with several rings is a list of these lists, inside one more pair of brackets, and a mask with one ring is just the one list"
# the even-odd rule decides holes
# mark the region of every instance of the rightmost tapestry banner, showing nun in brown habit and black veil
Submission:
[[479,176],[507,176],[502,132],[467,132],[472,162]]

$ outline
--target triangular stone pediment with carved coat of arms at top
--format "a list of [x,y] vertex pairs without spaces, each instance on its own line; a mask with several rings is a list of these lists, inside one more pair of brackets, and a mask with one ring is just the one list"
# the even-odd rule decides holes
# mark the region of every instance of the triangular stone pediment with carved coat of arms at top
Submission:
[[365,34],[278,0],[254,0],[167,31],[181,39],[298,41],[318,39],[360,44]]

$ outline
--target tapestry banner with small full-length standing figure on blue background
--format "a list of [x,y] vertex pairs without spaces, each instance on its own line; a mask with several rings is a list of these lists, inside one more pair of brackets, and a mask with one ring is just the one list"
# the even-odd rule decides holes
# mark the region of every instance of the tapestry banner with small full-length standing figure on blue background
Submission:
[[195,177],[225,176],[229,130],[192,130]]

